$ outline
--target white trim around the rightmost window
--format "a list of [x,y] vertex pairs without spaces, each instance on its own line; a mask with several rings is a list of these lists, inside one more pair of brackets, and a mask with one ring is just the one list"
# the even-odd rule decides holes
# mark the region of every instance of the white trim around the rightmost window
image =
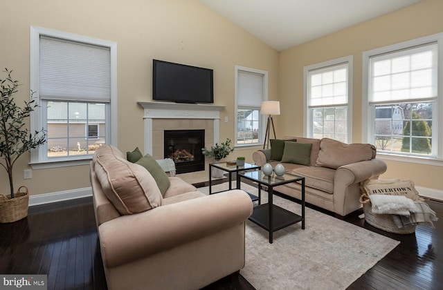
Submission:
[[[417,39],[411,39],[400,43],[395,43],[389,46],[383,46],[381,48],[375,48],[373,50],[367,50],[363,52],[363,72],[362,72],[362,101],[361,101],[361,138],[362,142],[370,143],[372,135],[374,133],[374,122],[371,118],[374,115],[374,106],[369,105],[369,69],[370,69],[370,57],[374,55],[381,55],[383,53],[395,52],[396,50],[405,50],[420,46],[426,43],[437,43],[437,117],[435,118],[436,124],[433,124],[433,132],[437,133],[437,156],[415,156],[404,155],[395,153],[378,152],[377,157],[385,160],[394,160],[399,162],[410,162],[417,164],[427,164],[435,166],[443,166],[443,134],[438,134],[440,126],[443,126],[443,32],[435,35],[428,35],[426,37],[419,37]],[[397,101],[404,102],[404,101]],[[434,127],[435,126],[435,127]],[[434,138],[434,136],[433,136]]]

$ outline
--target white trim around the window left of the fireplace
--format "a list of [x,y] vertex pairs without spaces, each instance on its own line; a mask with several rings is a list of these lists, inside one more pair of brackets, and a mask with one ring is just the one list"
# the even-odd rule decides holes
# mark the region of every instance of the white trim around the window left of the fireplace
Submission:
[[[117,146],[117,43],[113,41],[106,41],[92,37],[85,37],[82,35],[75,35],[69,32],[62,32],[48,28],[41,28],[37,26],[30,26],[30,90],[35,92],[32,99],[35,99],[36,104],[40,104],[39,100],[39,39],[40,35],[48,37],[55,37],[59,39],[68,39],[71,41],[78,41],[90,43],[97,46],[105,46],[110,50],[111,57],[111,101],[109,103],[110,110],[106,119],[109,120],[107,126],[107,136],[109,137],[109,144]],[[30,130],[38,131],[39,128],[44,127],[44,113],[41,107],[37,107],[30,115]],[[64,166],[77,166],[89,164],[92,159],[91,155],[79,155],[73,157],[61,157],[57,160],[50,160],[44,156],[44,146],[32,149],[30,152],[30,165],[32,168],[56,168]]]

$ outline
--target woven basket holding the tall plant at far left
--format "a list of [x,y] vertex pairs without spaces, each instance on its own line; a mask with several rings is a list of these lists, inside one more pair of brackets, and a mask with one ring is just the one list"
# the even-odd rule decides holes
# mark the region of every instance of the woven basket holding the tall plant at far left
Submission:
[[[25,192],[21,192],[24,189]],[[15,197],[0,195],[0,222],[17,222],[28,215],[29,193],[26,186],[20,186]]]

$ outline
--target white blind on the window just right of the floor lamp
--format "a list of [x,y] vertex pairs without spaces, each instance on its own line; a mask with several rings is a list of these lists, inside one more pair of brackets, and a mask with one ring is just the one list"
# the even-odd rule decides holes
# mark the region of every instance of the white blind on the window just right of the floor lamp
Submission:
[[346,63],[309,70],[309,108],[347,104],[347,66]]

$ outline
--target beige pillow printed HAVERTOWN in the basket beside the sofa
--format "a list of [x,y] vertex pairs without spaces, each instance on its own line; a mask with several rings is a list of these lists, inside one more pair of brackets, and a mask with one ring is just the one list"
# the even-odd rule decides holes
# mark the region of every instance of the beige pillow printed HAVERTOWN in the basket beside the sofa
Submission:
[[365,180],[361,184],[361,191],[367,195],[401,195],[413,201],[421,200],[412,180]]

